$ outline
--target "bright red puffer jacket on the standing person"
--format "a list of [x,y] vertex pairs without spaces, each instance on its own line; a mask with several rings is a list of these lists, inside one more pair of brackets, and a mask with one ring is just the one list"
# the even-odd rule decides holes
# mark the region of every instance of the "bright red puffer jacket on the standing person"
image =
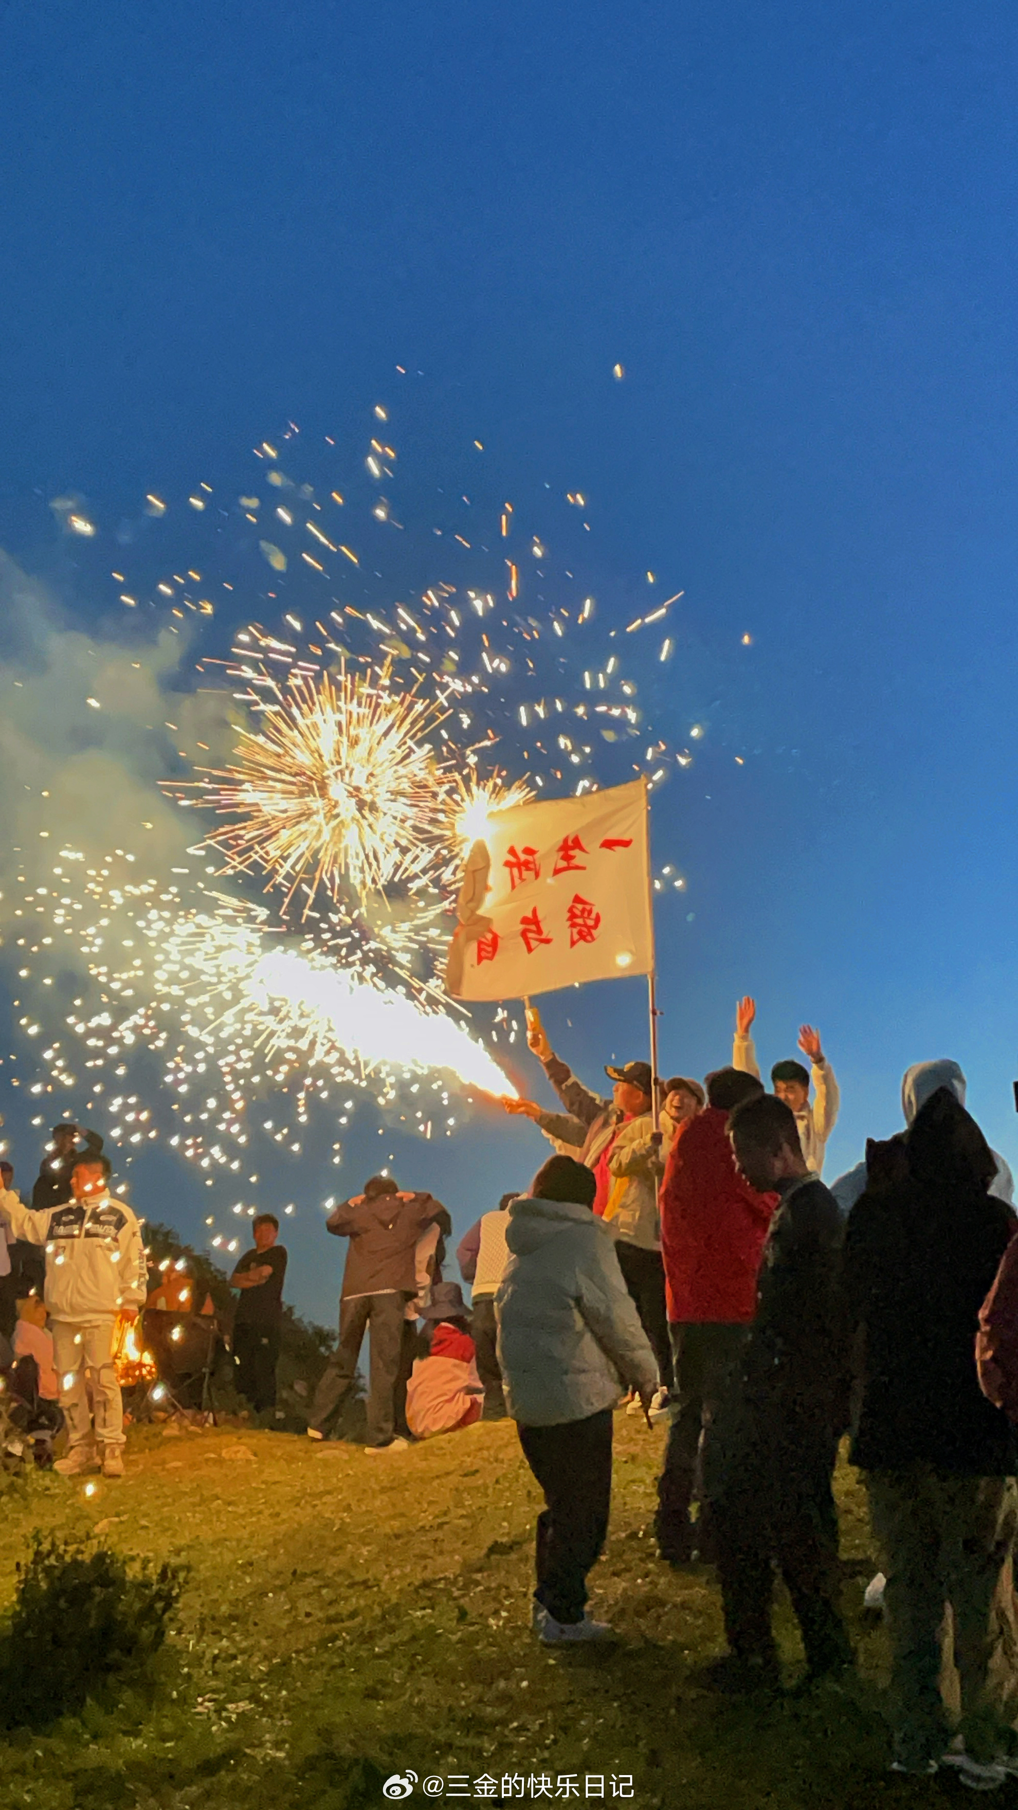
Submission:
[[757,1195],[735,1169],[728,1113],[717,1106],[676,1135],[661,1184],[661,1254],[668,1319],[748,1325],[761,1251],[777,1195]]

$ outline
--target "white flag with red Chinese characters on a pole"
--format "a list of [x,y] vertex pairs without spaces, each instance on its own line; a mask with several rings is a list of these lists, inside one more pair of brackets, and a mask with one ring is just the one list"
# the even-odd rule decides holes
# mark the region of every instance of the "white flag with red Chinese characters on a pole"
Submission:
[[447,992],[523,999],[650,974],[647,824],[645,780],[493,816],[469,853]]

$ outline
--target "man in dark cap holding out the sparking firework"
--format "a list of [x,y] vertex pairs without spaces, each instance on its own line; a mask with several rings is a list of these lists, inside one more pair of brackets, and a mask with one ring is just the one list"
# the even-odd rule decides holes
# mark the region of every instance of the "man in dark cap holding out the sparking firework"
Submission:
[[507,1111],[525,1113],[556,1148],[572,1148],[576,1160],[594,1171],[594,1215],[603,1218],[616,1242],[625,1285],[636,1303],[643,1330],[658,1359],[654,1412],[661,1412],[672,1388],[672,1347],[665,1310],[665,1263],[658,1220],[658,1182],[645,1167],[627,1173],[629,1155],[654,1131],[650,1062],[605,1066],[614,1082],[612,1099],[592,1093],[551,1048],[536,1010],[527,1012],[527,1043],[543,1066],[565,1113],[545,1113],[533,1100],[504,1100]]

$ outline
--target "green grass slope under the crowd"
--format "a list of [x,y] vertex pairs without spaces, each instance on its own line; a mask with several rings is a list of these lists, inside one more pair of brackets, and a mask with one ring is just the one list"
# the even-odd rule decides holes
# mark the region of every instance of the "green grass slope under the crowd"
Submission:
[[[654,1557],[661,1430],[616,1417],[616,1486],[592,1607],[612,1653],[529,1633],[538,1491],[511,1423],[391,1459],[263,1432],[141,1428],[123,1482],[38,1475],[0,1499],[0,1587],[34,1526],[92,1526],[190,1580],[158,1689],[11,1738],[0,1805],[33,1810],[353,1810],[389,1772],[632,1774],[634,1805],[862,1810],[927,1786],[888,1777],[880,1629],[860,1625],[871,1544],[839,1477],[860,1678],[770,1709],[717,1703],[690,1671],[721,1651],[710,1573]],[[855,1564],[851,1564],[855,1562]],[[801,1665],[788,1604],[777,1625]],[[529,1796],[523,1801],[533,1801]],[[420,1786],[411,1805],[424,1803]]]

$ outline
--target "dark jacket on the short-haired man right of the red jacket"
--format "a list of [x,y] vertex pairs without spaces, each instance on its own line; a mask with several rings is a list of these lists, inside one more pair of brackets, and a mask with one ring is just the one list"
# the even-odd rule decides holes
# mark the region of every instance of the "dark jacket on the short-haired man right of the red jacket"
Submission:
[[761,1428],[801,1426],[828,1435],[839,1421],[844,1424],[844,1220],[815,1175],[779,1182],[777,1193],[743,1365],[743,1405]]

